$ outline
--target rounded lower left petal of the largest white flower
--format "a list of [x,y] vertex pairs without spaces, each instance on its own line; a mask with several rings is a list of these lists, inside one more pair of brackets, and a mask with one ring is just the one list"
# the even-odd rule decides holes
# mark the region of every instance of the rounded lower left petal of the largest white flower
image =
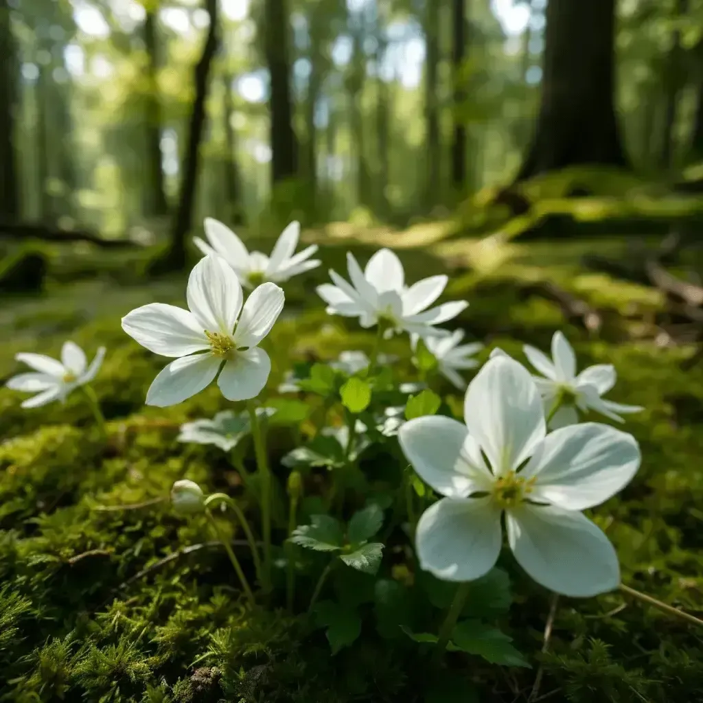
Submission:
[[420,567],[444,581],[473,581],[496,564],[502,543],[501,512],[491,498],[442,498],[418,521]]

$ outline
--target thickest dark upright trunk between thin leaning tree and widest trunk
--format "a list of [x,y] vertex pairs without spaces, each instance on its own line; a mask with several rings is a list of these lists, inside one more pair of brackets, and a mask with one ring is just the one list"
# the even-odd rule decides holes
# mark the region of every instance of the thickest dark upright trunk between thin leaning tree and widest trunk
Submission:
[[271,182],[275,185],[297,171],[288,63],[288,1],[266,0],[265,12],[266,62],[271,74]]

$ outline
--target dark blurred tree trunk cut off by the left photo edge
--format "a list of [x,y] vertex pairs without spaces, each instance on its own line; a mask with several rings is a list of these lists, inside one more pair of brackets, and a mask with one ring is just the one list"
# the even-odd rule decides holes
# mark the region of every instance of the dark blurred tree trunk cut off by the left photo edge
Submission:
[[0,0],[0,214],[20,216],[20,178],[15,155],[17,56],[10,6]]

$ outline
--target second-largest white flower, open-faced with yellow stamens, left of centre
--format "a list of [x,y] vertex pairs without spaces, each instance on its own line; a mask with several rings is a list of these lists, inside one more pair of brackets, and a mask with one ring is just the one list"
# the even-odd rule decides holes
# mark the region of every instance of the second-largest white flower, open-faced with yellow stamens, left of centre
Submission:
[[122,318],[122,329],[142,347],[177,357],[154,379],[147,405],[181,403],[207,387],[218,371],[217,385],[228,400],[247,400],[261,392],[271,360],[257,344],[283,309],[283,290],[264,283],[244,307],[242,298],[236,274],[224,259],[209,255],[195,264],[188,278],[190,311],[151,303]]

